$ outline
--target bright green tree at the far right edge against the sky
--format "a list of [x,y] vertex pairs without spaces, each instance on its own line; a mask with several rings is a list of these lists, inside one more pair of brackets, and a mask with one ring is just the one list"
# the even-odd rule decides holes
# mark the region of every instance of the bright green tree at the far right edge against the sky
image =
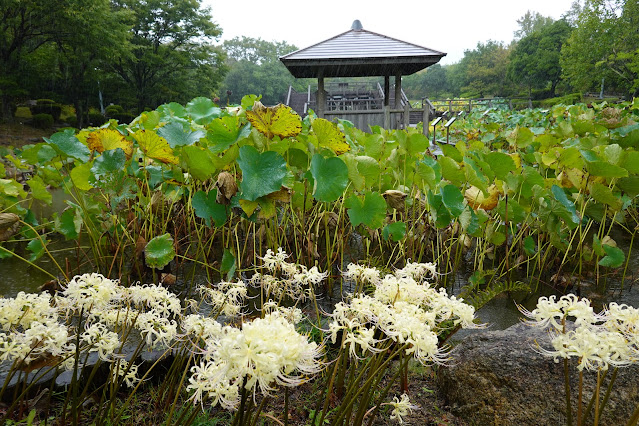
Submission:
[[564,76],[579,90],[606,86],[637,94],[639,88],[639,3],[587,0],[561,51]]

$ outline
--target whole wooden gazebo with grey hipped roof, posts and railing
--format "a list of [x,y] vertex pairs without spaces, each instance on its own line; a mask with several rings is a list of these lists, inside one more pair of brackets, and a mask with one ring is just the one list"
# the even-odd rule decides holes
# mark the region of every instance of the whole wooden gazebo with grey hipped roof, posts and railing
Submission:
[[[385,128],[406,127],[410,117],[420,112],[423,119],[419,121],[427,122],[429,108],[411,113],[407,99],[402,96],[401,78],[436,64],[444,56],[446,53],[367,31],[359,20],[355,20],[349,31],[282,56],[280,61],[296,78],[317,79],[314,101],[311,101],[309,89],[308,102],[313,104],[318,116],[348,119],[367,130],[369,125],[376,124]],[[379,102],[374,102],[375,96],[370,96],[372,92],[360,96],[361,99],[357,95],[348,98],[346,95],[353,93],[347,90],[348,83],[339,83],[339,87],[326,91],[326,78],[380,76],[384,77],[384,87],[377,91],[380,92]],[[392,92],[391,76],[395,79]],[[331,98],[332,92],[337,93],[334,98]],[[358,93],[361,93],[359,89]]]

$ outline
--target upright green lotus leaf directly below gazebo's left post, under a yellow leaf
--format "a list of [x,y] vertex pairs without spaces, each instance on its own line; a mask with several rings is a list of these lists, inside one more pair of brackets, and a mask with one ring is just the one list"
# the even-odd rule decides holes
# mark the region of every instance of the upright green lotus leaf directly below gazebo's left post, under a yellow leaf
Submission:
[[337,200],[348,185],[348,167],[338,157],[324,158],[315,154],[311,159],[313,175],[313,197],[317,201],[330,203]]

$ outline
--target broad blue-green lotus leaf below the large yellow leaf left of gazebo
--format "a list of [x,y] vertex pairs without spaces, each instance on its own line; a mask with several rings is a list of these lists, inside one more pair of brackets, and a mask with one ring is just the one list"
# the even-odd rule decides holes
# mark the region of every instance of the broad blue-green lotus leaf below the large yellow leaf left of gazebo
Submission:
[[242,169],[242,199],[255,201],[279,191],[286,177],[286,160],[273,151],[259,153],[250,145],[240,148],[237,164]]

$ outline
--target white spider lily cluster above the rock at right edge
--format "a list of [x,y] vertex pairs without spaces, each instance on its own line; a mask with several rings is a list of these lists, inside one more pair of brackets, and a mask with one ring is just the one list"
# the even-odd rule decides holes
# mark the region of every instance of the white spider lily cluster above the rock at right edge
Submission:
[[537,350],[556,361],[575,358],[579,370],[595,371],[639,360],[639,309],[611,303],[597,314],[588,299],[571,294],[540,297],[532,312],[519,310],[528,324],[550,330],[552,349]]

